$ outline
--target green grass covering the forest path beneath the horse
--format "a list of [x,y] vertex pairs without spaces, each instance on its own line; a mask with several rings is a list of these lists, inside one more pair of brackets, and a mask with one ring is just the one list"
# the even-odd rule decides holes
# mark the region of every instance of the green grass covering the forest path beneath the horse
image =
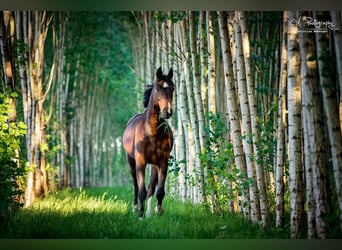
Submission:
[[139,220],[131,188],[66,189],[18,211],[1,238],[58,239],[256,239],[286,238],[236,214],[212,214],[206,206],[166,196],[163,215]]

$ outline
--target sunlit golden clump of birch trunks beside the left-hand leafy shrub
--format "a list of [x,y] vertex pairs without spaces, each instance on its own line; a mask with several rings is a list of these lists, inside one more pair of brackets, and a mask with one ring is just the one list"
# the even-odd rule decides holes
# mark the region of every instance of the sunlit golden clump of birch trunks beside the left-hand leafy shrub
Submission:
[[36,197],[48,192],[46,171],[46,120],[44,101],[50,90],[56,65],[52,65],[45,83],[45,39],[52,15],[48,12],[16,12],[17,39],[28,45],[27,68],[21,64],[22,93],[27,130],[28,160],[31,170],[27,176],[25,205],[30,206]]

